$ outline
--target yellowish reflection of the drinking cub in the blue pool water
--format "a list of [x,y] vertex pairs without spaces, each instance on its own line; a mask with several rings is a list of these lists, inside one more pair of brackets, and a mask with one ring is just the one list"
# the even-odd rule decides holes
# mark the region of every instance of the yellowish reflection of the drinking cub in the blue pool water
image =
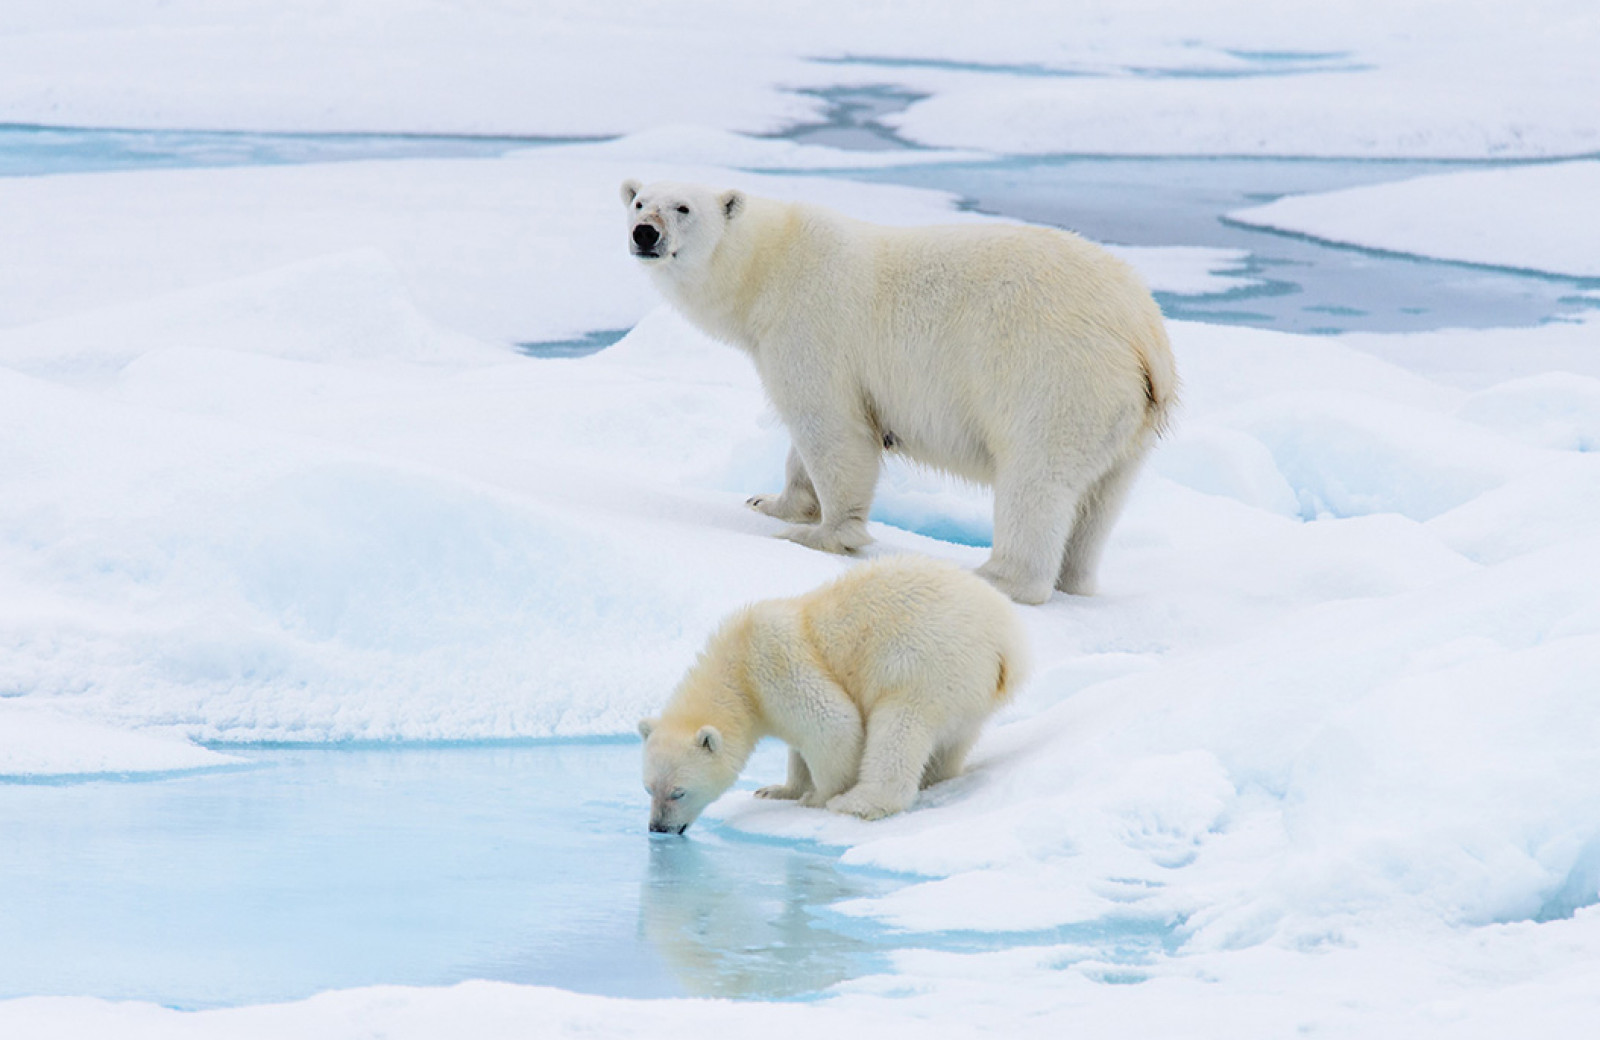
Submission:
[[638,931],[694,997],[798,997],[886,966],[866,926],[842,934],[816,914],[886,888],[816,853],[656,837]]

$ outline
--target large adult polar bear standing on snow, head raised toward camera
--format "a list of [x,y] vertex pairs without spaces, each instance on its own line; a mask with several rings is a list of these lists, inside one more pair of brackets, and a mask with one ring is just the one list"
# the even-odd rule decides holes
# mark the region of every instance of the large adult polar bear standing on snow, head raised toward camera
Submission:
[[866,546],[885,450],[994,486],[979,574],[1019,603],[1093,592],[1173,403],[1160,307],[1070,232],[878,227],[698,184],[622,184],[656,286],[755,358],[789,427],[787,483],[750,506],[803,546]]

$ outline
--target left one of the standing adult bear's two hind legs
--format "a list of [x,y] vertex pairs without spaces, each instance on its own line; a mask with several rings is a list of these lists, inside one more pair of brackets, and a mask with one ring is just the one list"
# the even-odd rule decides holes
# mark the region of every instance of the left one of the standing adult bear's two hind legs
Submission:
[[1078,490],[1018,467],[995,477],[995,541],[978,576],[1018,603],[1043,603],[1061,573]]

